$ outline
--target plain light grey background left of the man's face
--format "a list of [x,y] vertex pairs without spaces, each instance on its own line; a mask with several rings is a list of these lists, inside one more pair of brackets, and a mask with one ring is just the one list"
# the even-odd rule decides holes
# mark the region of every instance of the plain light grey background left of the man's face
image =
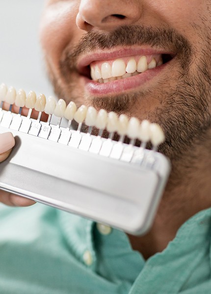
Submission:
[[44,0],[0,0],[0,84],[52,95],[39,46]]

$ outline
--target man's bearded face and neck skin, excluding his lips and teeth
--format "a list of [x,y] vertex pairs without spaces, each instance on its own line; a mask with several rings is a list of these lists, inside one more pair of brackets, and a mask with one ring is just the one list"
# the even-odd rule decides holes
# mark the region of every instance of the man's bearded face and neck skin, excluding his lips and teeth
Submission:
[[[172,163],[152,229],[129,236],[147,259],[211,206],[211,1],[49,0],[40,35],[49,77],[66,102],[149,119],[164,129]],[[133,36],[133,37],[132,37]],[[153,49],[174,57],[156,76],[120,94],[93,96],[77,65],[95,52]]]

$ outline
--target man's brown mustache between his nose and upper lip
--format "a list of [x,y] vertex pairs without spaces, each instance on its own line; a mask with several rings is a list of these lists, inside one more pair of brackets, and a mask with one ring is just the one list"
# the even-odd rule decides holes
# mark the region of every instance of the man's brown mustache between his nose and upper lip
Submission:
[[68,66],[69,70],[76,70],[80,55],[97,49],[112,49],[115,47],[151,46],[153,48],[169,50],[176,53],[182,68],[185,70],[193,54],[191,44],[184,36],[172,28],[153,28],[143,25],[124,25],[109,33],[89,31],[84,34],[79,43],[72,49],[64,51],[60,61],[61,68]]

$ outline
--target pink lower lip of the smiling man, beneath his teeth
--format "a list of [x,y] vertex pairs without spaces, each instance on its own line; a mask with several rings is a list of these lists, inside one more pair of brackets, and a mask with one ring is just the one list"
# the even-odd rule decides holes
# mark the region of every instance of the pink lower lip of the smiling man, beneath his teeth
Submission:
[[90,80],[87,77],[85,79],[85,88],[91,95],[103,96],[108,94],[121,94],[127,90],[138,88],[144,85],[146,82],[151,81],[156,75],[161,73],[164,67],[167,65],[163,64],[152,70],[148,70],[144,73],[140,73],[131,77],[115,80],[107,83],[99,83]]

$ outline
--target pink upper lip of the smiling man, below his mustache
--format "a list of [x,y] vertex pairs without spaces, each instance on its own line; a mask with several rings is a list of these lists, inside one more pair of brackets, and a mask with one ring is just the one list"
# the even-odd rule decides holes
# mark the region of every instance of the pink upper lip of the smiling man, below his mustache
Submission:
[[77,63],[78,72],[82,75],[87,75],[88,69],[87,67],[93,62],[97,60],[111,60],[126,56],[134,56],[134,55],[154,55],[154,54],[168,54],[174,57],[176,55],[175,52],[164,50],[164,49],[153,49],[151,47],[143,47],[143,48],[119,48],[114,50],[99,50],[96,52],[90,52],[86,55],[82,55]]

